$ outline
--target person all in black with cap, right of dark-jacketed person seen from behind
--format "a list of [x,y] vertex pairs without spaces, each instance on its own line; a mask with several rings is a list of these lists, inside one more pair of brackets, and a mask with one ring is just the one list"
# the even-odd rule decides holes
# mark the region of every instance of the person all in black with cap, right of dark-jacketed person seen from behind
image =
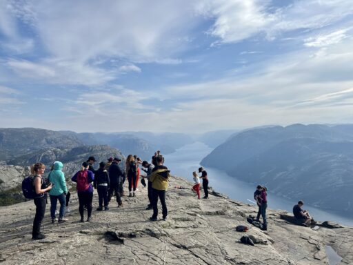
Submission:
[[114,157],[112,164],[109,167],[109,177],[110,177],[110,188],[109,188],[109,195],[108,201],[112,199],[113,193],[117,196],[117,203],[118,207],[123,206],[121,202],[121,190],[120,186],[123,182],[123,172],[119,167],[119,162],[121,159]]

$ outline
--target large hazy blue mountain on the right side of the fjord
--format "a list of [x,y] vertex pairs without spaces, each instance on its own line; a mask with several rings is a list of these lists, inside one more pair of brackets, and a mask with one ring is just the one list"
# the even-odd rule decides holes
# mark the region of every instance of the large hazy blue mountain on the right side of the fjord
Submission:
[[294,124],[247,130],[215,148],[201,164],[265,184],[294,202],[304,199],[353,217],[352,129]]

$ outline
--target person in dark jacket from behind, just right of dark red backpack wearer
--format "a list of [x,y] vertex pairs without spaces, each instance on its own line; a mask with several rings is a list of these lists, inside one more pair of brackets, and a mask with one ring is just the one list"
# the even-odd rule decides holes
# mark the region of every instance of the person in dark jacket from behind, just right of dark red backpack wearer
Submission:
[[105,163],[99,163],[99,168],[94,175],[94,188],[97,188],[98,191],[98,202],[99,207],[97,210],[103,210],[103,201],[104,201],[104,210],[109,210],[108,207],[108,187],[110,186],[110,179],[108,171],[105,169]]

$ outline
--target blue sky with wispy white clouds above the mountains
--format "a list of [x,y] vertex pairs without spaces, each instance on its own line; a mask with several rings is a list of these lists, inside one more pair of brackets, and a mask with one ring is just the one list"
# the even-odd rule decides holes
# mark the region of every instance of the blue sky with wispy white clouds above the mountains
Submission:
[[0,127],[353,123],[352,0],[0,0]]

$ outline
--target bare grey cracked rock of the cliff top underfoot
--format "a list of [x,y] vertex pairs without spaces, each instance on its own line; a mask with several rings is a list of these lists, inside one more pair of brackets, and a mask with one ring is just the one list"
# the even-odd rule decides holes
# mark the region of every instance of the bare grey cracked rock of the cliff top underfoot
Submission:
[[[108,211],[94,210],[92,222],[79,222],[77,196],[72,193],[69,221],[51,224],[49,204],[42,224],[47,238],[39,241],[31,240],[32,201],[1,207],[0,263],[312,265],[328,264],[325,247],[330,245],[343,257],[340,264],[353,264],[353,228],[313,230],[281,219],[284,211],[268,210],[268,231],[262,231],[246,222],[248,215],[256,214],[256,206],[216,193],[210,199],[197,199],[191,187],[185,179],[172,177],[168,220],[157,222],[149,221],[152,210],[145,210],[147,188],[141,184],[137,197],[123,197],[123,208],[111,202]],[[97,197],[94,191],[94,209]],[[250,227],[246,234],[259,244],[240,242],[245,233],[235,227],[241,224]]]

